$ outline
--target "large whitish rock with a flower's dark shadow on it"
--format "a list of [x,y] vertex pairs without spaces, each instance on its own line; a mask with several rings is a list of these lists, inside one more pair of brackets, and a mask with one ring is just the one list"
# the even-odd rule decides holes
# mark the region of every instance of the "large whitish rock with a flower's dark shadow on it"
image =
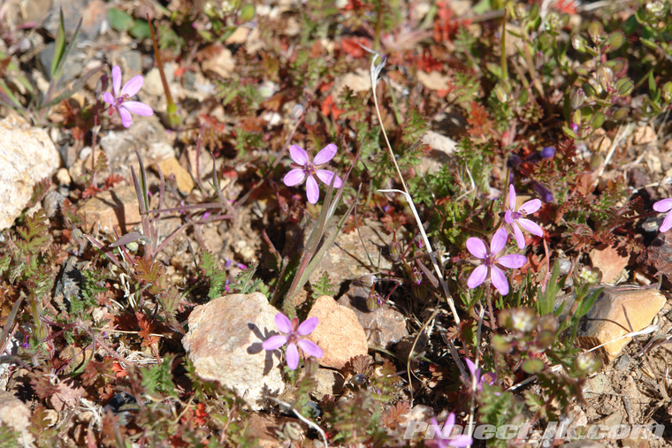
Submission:
[[264,391],[285,390],[279,356],[262,347],[276,332],[277,314],[258,292],[232,294],[194,308],[182,345],[196,374],[218,381],[252,409],[261,409]]

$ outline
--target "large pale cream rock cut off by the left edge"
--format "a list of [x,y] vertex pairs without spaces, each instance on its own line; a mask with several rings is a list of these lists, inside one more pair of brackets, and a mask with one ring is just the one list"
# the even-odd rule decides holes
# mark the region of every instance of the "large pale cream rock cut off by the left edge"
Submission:
[[50,178],[60,163],[42,128],[18,117],[0,121],[0,231],[11,227],[30,201],[34,185]]

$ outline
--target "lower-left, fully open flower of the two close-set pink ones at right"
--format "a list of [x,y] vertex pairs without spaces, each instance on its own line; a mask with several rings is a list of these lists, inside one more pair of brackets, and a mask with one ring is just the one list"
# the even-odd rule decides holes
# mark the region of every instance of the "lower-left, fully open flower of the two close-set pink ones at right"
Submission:
[[497,291],[499,291],[501,295],[508,294],[507,277],[504,275],[501,268],[504,267],[511,270],[518,269],[525,264],[527,258],[524,255],[519,254],[508,254],[498,257],[497,254],[504,249],[507,244],[507,239],[508,232],[503,227],[494,233],[493,239],[490,242],[490,250],[488,250],[481,239],[474,237],[467,239],[467,250],[469,250],[477,259],[482,260],[481,265],[471,273],[467,280],[467,285],[471,289],[474,289],[485,282],[485,278],[490,274],[490,280],[493,282],[493,286],[497,288]]

